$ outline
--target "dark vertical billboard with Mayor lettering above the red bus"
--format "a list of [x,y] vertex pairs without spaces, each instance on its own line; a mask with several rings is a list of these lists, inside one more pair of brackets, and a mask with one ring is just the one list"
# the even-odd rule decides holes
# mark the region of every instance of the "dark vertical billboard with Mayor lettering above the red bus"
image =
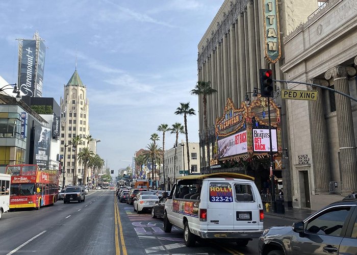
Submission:
[[34,136],[34,164],[40,169],[48,169],[50,152],[51,130],[35,125]]

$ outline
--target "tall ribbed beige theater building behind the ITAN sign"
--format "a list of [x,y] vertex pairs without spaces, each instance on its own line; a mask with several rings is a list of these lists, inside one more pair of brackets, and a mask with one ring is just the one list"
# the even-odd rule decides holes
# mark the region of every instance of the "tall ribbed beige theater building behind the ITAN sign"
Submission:
[[[274,16],[277,21],[279,31],[275,37],[281,41],[294,30],[301,22],[307,21],[310,13],[318,8],[318,1],[301,0],[301,1],[273,1],[276,3],[277,12]],[[228,157],[224,160],[213,160],[217,154],[215,122],[222,116],[228,98],[231,98],[235,109],[243,107],[246,97],[251,97],[254,88],[259,87],[259,69],[269,68],[273,71],[273,77],[282,80],[283,73],[280,70],[284,64],[284,45],[277,46],[278,54],[282,57],[274,64],[266,58],[266,30],[265,23],[270,19],[265,16],[264,9],[270,8],[271,3],[256,0],[236,0],[224,1],[218,13],[212,20],[205,35],[198,43],[198,81],[211,82],[212,88],[217,93],[207,97],[207,120],[208,134],[211,155],[206,155],[205,132],[203,127],[203,115],[199,115],[199,143],[201,152],[201,170],[211,172],[214,169],[219,170],[225,161],[236,160],[235,157]],[[279,129],[281,129],[282,148],[288,147],[287,120],[285,117],[285,102],[279,98],[280,84],[274,85],[273,102],[281,109],[279,119]],[[202,97],[199,97],[199,112],[202,113]],[[245,105],[248,107],[248,105]],[[266,109],[266,108],[265,108]],[[263,111],[264,107],[263,107]],[[250,123],[251,118],[247,118]],[[260,123],[258,123],[260,124]],[[244,125],[244,123],[243,123]],[[246,127],[245,127],[246,128]],[[284,150],[285,151],[285,150]],[[282,155],[280,151],[276,156]],[[264,156],[264,155],[263,155]],[[244,172],[249,170],[254,174],[257,169],[264,176],[269,177],[269,164],[265,164],[265,159],[257,157],[249,158],[249,154],[242,154],[238,158],[245,157],[243,164]],[[265,157],[267,157],[265,155]],[[289,206],[292,204],[292,196],[289,187],[291,187],[291,175],[289,160],[283,157],[283,170],[278,174],[283,177],[286,202]],[[235,163],[234,163],[235,164]],[[234,165],[233,164],[233,165]],[[236,167],[224,167],[224,171],[236,171]],[[264,179],[257,183],[259,188],[263,188]]]

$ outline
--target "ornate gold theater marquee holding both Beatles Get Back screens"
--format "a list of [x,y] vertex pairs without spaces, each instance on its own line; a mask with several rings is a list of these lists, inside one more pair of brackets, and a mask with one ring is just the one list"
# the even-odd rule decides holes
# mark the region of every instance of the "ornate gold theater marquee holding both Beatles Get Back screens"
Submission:
[[[278,156],[282,151],[280,109],[271,100],[272,151]],[[268,158],[270,152],[268,101],[258,95],[250,105],[241,104],[236,109],[228,98],[223,116],[216,119],[214,158],[215,165],[237,166],[252,159]],[[227,164],[228,163],[228,164]]]

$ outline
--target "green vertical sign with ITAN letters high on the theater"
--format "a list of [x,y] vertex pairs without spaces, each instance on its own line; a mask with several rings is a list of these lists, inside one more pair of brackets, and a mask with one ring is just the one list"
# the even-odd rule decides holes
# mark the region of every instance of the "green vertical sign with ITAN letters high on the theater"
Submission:
[[282,56],[277,0],[263,0],[265,57],[276,63]]

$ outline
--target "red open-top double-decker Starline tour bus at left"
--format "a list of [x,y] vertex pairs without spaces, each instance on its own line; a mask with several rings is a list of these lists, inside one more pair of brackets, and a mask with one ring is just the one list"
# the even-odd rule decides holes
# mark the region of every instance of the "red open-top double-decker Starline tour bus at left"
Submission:
[[58,200],[58,171],[37,165],[8,165],[11,175],[10,209],[53,205]]

